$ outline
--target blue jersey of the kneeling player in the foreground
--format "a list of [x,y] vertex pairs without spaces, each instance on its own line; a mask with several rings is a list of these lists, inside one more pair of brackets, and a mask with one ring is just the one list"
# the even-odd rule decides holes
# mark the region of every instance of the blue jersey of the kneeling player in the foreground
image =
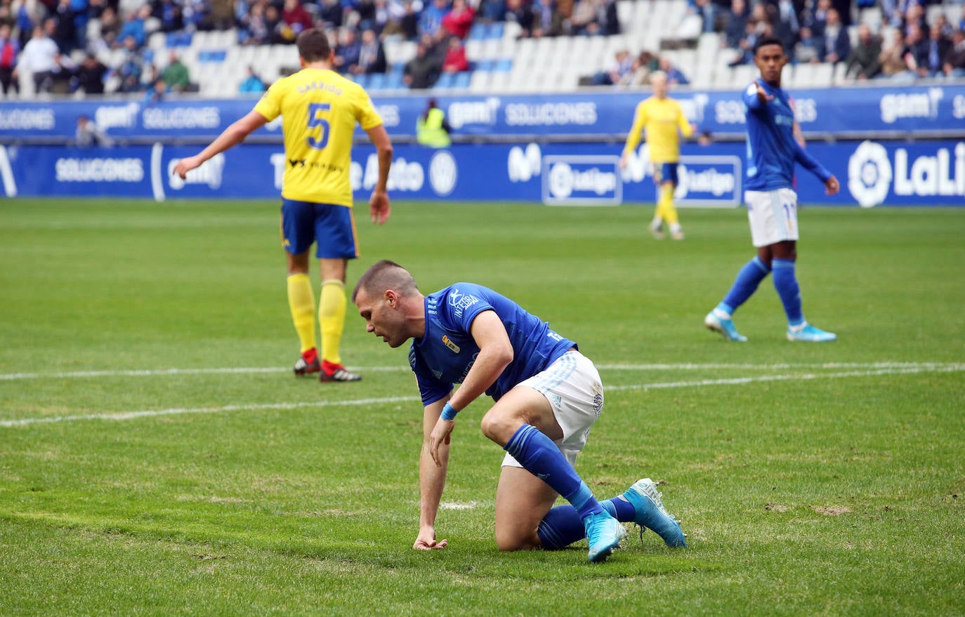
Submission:
[[512,344],[512,362],[485,391],[495,400],[576,347],[509,298],[483,285],[457,282],[426,297],[426,334],[413,339],[409,349],[424,406],[445,398],[476,362],[480,348],[470,328],[483,310],[496,312]]

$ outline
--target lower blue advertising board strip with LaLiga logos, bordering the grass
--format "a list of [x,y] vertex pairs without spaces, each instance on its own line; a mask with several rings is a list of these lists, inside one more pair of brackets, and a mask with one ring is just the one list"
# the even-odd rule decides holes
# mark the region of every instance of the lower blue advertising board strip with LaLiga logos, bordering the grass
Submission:
[[[171,174],[195,146],[72,148],[0,147],[0,181],[9,197],[115,196],[155,200],[278,197],[287,164],[280,145],[241,145],[181,180]],[[799,170],[800,201],[840,205],[965,205],[965,140],[839,142],[809,145],[841,180],[828,198],[823,185]],[[389,179],[393,199],[541,201],[617,204],[654,201],[647,153],[618,168],[619,145],[456,144],[433,150],[399,146]],[[683,148],[681,205],[739,205],[744,146]],[[355,148],[350,168],[356,198],[365,201],[377,177],[374,148]]]

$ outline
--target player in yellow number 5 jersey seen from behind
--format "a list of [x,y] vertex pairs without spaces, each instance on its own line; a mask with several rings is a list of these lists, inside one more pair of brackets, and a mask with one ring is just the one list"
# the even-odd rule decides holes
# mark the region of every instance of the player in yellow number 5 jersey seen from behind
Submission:
[[[264,123],[282,117],[287,165],[282,179],[282,232],[288,255],[289,306],[301,342],[296,375],[319,373],[323,382],[362,379],[345,370],[340,355],[345,327],[345,267],[358,256],[352,219],[348,169],[358,122],[377,150],[378,181],[369,200],[372,223],[389,218],[386,193],[392,143],[372,100],[358,84],[332,66],[332,49],[317,28],[298,35],[295,44],[302,69],[275,82],[255,108],[226,128],[207,148],[181,159],[180,177],[219,152],[241,143]],[[308,276],[309,250],[317,242],[321,271],[318,322],[321,358],[316,345],[315,293]]]

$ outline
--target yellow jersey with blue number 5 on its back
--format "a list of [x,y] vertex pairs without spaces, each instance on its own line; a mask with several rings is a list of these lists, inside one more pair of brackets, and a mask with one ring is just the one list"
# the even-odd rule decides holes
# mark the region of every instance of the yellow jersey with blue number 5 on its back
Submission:
[[282,117],[287,200],[352,205],[352,138],[382,123],[365,90],[333,70],[302,68],[262,94],[255,111],[268,121]]

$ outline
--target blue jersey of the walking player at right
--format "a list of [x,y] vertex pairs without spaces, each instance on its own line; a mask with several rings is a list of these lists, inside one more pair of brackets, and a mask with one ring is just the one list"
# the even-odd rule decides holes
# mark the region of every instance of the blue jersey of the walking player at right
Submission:
[[[757,84],[774,98],[761,103]],[[763,80],[744,90],[747,111],[748,191],[775,191],[793,188],[794,162],[826,181],[831,172],[821,166],[794,139],[794,110],[787,93]]]

